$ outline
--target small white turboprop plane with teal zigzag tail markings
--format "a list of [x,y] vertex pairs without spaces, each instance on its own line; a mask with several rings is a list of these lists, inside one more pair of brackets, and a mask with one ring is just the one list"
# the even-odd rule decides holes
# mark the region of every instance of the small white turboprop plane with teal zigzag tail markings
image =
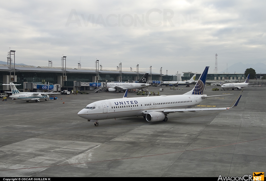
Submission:
[[14,84],[10,82],[10,84],[2,84],[2,85],[10,85],[10,89],[12,92],[7,92],[7,93],[12,93],[12,96],[9,96],[13,100],[22,100],[22,101],[35,101],[35,102],[40,102],[40,100],[49,100],[48,94],[60,94],[60,93],[46,93],[46,92],[20,92],[15,85],[21,85],[21,84]]

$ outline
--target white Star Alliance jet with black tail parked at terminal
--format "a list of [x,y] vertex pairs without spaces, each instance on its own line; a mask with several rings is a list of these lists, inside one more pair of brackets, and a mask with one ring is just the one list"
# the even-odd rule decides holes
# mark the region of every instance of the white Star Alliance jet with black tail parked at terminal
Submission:
[[122,82],[109,82],[106,84],[106,88],[109,92],[115,91],[126,91],[127,89],[139,89],[143,87],[147,87],[150,84],[147,84],[148,81],[148,73],[144,74],[143,77],[139,80],[138,83],[122,83]]

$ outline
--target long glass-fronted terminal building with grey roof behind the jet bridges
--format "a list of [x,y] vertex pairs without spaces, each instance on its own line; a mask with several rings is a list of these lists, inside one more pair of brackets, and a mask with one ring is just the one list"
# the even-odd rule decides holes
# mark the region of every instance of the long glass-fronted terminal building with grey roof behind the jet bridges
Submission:
[[[61,89],[75,90],[75,87],[80,87],[80,83],[95,83],[106,81],[138,81],[147,72],[135,71],[116,71],[116,70],[98,70],[85,68],[66,68],[61,67],[35,67],[15,65],[15,70],[10,69],[7,64],[0,64],[0,91],[9,91],[9,86],[2,84],[22,84],[17,86],[19,90],[25,91],[24,83],[35,84],[60,84]],[[14,76],[15,74],[15,76]],[[161,74],[149,74],[148,79],[160,80]],[[85,88],[83,88],[85,89]],[[86,89],[88,90],[88,88]]]

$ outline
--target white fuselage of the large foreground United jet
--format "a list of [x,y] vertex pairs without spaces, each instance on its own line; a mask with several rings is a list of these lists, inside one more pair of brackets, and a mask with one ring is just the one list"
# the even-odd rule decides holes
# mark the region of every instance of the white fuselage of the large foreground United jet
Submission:
[[[78,112],[78,116],[88,120],[144,116],[144,111],[162,109],[191,108],[201,103],[206,95],[174,95],[156,97],[117,98],[96,101]],[[165,113],[167,114],[167,113]]]

